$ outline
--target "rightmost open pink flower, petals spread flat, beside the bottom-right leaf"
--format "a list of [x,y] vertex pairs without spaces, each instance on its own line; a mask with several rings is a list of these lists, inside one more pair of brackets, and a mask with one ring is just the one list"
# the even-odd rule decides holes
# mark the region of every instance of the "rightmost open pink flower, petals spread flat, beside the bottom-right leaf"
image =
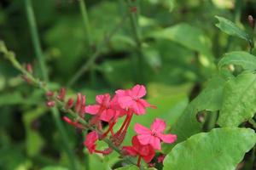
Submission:
[[141,144],[151,144],[156,150],[161,149],[160,141],[172,144],[177,139],[174,134],[163,133],[166,129],[166,122],[159,118],[154,119],[150,129],[138,123],[135,124],[134,129]]

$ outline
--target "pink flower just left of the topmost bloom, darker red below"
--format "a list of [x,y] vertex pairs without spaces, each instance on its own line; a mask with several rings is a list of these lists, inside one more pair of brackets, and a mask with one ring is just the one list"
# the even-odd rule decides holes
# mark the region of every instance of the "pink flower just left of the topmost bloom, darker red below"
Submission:
[[96,105],[88,105],[85,111],[91,115],[99,116],[99,119],[104,122],[110,122],[115,116],[115,111],[112,108],[109,94],[96,96]]

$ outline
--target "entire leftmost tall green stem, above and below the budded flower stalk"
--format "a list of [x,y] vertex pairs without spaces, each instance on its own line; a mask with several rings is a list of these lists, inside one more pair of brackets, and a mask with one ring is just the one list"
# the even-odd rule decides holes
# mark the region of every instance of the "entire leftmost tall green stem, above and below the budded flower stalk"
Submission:
[[[43,54],[41,44],[39,41],[38,28],[37,28],[37,24],[36,24],[35,14],[33,12],[31,0],[25,0],[25,6],[26,6],[27,20],[28,20],[28,23],[30,26],[30,31],[31,31],[31,36],[32,36],[33,48],[34,48],[36,56],[38,58],[44,81],[48,82],[49,77],[48,77],[47,68],[46,68],[46,64],[45,64],[45,60],[44,60],[44,54]],[[69,147],[66,129],[61,122],[60,113],[56,108],[53,108],[51,110],[51,114],[53,116],[55,125],[56,125],[59,133],[61,133],[61,139],[65,145],[65,150],[67,151],[67,156],[69,156],[69,159],[71,161],[72,168],[78,169],[75,157],[73,155],[73,151]]]

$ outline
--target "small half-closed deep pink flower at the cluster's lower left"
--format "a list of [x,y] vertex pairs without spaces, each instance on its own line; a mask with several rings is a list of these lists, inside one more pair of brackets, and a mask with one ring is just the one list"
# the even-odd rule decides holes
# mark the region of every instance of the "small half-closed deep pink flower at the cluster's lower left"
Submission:
[[99,137],[96,131],[92,131],[87,134],[84,141],[84,146],[87,148],[87,150],[89,150],[90,154],[92,154],[96,150],[96,141],[98,138]]

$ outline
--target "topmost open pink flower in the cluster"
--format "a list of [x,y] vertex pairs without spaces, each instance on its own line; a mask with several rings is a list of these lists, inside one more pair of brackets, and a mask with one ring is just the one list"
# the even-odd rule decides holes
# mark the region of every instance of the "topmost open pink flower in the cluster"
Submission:
[[145,99],[141,99],[147,94],[146,88],[143,85],[137,84],[128,90],[117,90],[115,94],[117,94],[119,105],[123,109],[131,109],[137,115],[145,114],[146,107],[154,107],[148,104]]

